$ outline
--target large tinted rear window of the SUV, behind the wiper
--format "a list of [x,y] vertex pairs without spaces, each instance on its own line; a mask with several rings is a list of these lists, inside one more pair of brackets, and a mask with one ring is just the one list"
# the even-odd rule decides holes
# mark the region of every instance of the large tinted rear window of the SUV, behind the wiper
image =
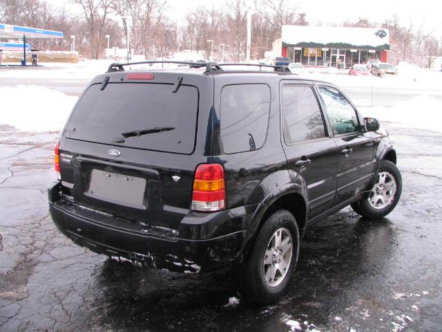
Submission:
[[[68,122],[66,137],[124,147],[191,154],[195,146],[198,89],[171,84],[109,83],[90,86]],[[124,137],[122,133],[155,128],[166,131]],[[171,129],[173,128],[173,129]]]

